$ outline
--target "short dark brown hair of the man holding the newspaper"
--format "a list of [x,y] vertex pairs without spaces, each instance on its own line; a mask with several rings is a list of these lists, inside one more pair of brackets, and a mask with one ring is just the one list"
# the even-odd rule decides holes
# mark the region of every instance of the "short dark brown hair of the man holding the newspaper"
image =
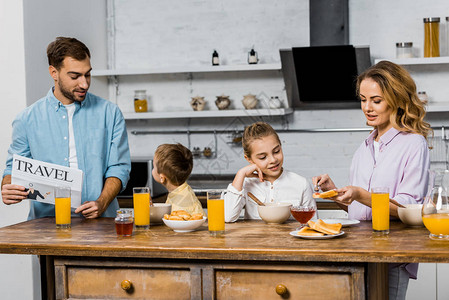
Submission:
[[47,47],[48,65],[60,70],[66,57],[76,60],[90,58],[89,48],[75,38],[57,37]]

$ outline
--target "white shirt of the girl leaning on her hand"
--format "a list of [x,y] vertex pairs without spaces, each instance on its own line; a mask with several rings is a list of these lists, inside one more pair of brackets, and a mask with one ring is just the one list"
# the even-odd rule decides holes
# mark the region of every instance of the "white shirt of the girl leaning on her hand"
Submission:
[[257,204],[248,196],[251,192],[264,203],[288,202],[293,205],[312,204],[312,187],[307,179],[284,169],[273,183],[260,182],[259,178],[245,178],[243,189],[238,191],[232,183],[225,191],[225,222],[235,222],[245,208],[245,219],[260,219]]

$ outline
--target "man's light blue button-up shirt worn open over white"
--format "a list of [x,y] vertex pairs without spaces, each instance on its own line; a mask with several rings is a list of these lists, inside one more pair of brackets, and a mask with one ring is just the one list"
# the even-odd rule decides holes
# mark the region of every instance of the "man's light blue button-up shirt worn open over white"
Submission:
[[[128,136],[120,109],[114,103],[87,93],[75,102],[73,134],[78,168],[84,172],[81,203],[95,201],[108,177],[117,177],[126,187],[131,170]],[[11,174],[12,155],[69,166],[69,124],[65,106],[47,96],[23,110],[13,122],[12,144],[3,176]],[[102,216],[114,217],[114,199]],[[54,216],[54,205],[31,201],[29,219]]]

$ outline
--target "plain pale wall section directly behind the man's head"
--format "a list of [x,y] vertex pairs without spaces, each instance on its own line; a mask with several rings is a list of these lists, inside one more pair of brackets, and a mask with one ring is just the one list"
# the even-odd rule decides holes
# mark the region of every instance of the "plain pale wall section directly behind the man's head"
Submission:
[[106,68],[105,0],[24,0],[23,3],[28,105],[45,96],[53,85],[46,49],[58,36],[79,39],[89,47],[92,68]]

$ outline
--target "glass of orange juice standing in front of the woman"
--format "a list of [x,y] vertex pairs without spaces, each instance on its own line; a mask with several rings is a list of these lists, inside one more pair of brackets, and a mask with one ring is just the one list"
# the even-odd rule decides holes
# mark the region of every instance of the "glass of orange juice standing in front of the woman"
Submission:
[[371,189],[371,209],[373,214],[373,232],[376,235],[390,233],[390,194],[386,187]]

